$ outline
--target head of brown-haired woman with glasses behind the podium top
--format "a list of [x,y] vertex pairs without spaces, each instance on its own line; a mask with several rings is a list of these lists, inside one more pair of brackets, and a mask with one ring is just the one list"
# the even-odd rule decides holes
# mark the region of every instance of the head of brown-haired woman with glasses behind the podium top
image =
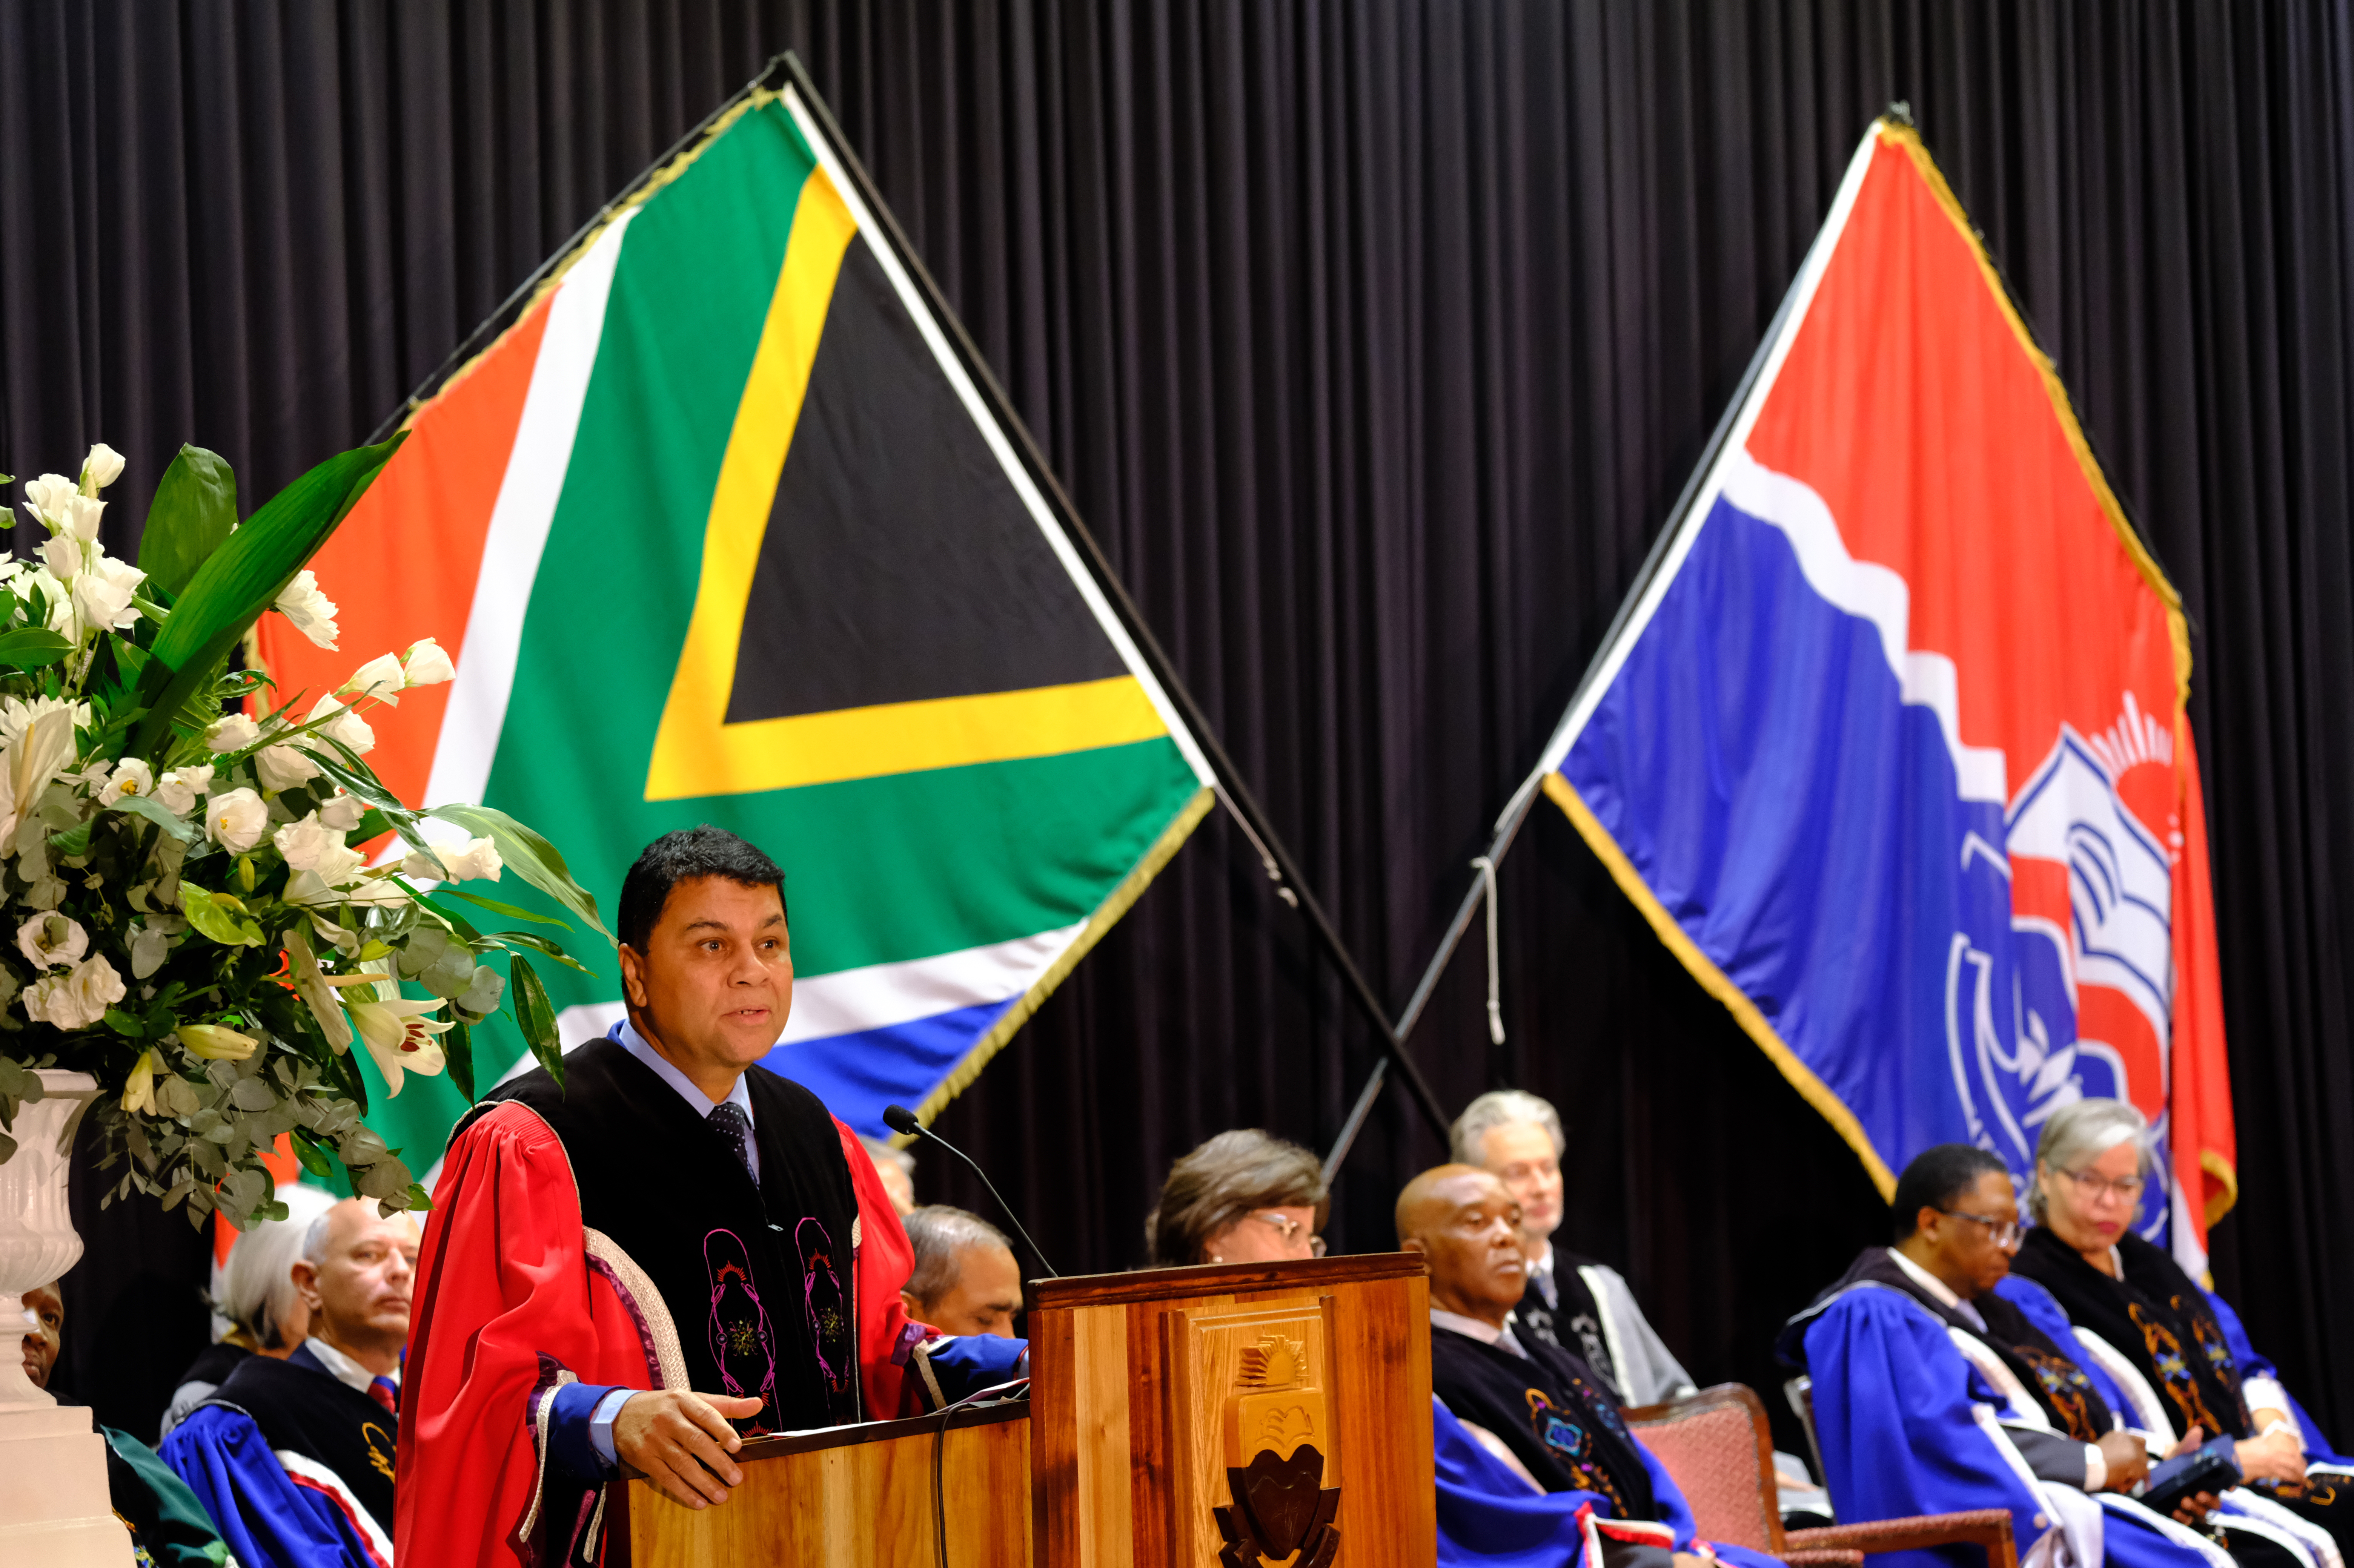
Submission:
[[1144,1222],[1151,1267],[1323,1257],[1323,1165],[1257,1128],[1219,1132],[1170,1165]]

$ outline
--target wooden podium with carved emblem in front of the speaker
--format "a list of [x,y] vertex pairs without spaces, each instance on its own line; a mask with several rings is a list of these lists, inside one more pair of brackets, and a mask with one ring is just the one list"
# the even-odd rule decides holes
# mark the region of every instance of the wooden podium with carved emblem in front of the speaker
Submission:
[[1424,1276],[1379,1253],[1031,1281],[1026,1406],[758,1439],[716,1509],[629,1481],[607,1561],[920,1568],[937,1455],[946,1568],[1427,1568]]

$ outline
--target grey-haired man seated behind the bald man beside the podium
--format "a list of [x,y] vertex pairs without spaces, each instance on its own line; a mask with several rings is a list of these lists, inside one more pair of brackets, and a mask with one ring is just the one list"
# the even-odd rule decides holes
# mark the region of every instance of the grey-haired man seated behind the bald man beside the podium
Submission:
[[1521,1205],[1528,1293],[1514,1330],[1577,1351],[1624,1406],[1693,1391],[1693,1375],[1660,1342],[1617,1269],[1554,1248],[1561,1227],[1561,1114],[1521,1090],[1481,1095],[1452,1128],[1455,1161],[1499,1180]]

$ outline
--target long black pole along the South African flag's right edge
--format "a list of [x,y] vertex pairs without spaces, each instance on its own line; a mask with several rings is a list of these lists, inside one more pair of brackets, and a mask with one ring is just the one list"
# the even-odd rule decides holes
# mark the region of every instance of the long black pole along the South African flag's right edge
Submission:
[[[1055,476],[1055,469],[1045,461],[1045,454],[1031,438],[1029,426],[1015,414],[1012,400],[1005,396],[1005,388],[998,386],[996,372],[991,372],[989,360],[982,358],[982,351],[979,346],[975,346],[972,334],[965,332],[965,323],[956,315],[956,311],[949,308],[946,294],[942,294],[939,283],[932,278],[930,268],[925,268],[923,257],[916,254],[916,247],[909,242],[906,231],[899,228],[899,219],[892,214],[890,202],[883,200],[883,193],[876,186],[873,177],[866,172],[866,165],[850,148],[850,139],[843,137],[843,127],[833,120],[833,111],[826,106],[824,97],[819,97],[817,82],[810,80],[810,71],[800,64],[800,57],[793,54],[791,49],[779,54],[777,61],[784,64],[784,73],[791,80],[791,85],[800,92],[800,99],[807,106],[810,118],[817,120],[817,125],[826,134],[826,141],[833,144],[836,155],[840,155],[843,160],[843,170],[847,170],[852,184],[857,184],[859,195],[866,202],[866,210],[873,212],[876,224],[883,228],[883,238],[890,242],[892,252],[897,252],[899,264],[906,268],[909,278],[916,280],[916,287],[923,290],[925,304],[932,306],[932,318],[939,323],[942,334],[949,339],[951,348],[956,351],[956,358],[963,360],[965,374],[972,377],[972,384],[979,388],[982,398],[989,400],[989,410],[996,417],[998,428],[1005,431],[1005,438],[1019,454],[1022,466],[1031,476],[1031,483],[1038,485],[1038,494],[1045,497],[1048,506],[1055,511],[1055,520],[1062,525],[1064,534],[1069,534],[1071,544],[1078,549],[1080,560],[1088,563],[1088,572],[1095,577],[1097,589],[1102,589],[1104,600],[1111,605],[1111,612],[1121,617],[1121,624],[1135,640],[1137,652],[1151,666],[1153,678],[1161,683],[1161,690],[1168,692],[1170,702],[1177,704],[1177,711],[1184,716],[1186,727],[1193,732],[1193,742],[1201,746],[1203,758],[1210,763],[1210,772],[1217,777],[1219,796],[1224,798],[1226,810],[1233,815],[1233,819],[1250,836],[1252,845],[1259,850],[1262,864],[1269,866],[1269,876],[1276,883],[1276,892],[1283,895],[1285,904],[1292,904],[1306,918],[1309,932],[1316,937],[1318,946],[1323,946],[1325,958],[1330,958],[1332,968],[1339,970],[1339,977],[1351,1001],[1379,1034],[1382,1064],[1377,1064],[1377,1071],[1384,1071],[1389,1062],[1396,1062],[1398,1074],[1405,1078],[1405,1088],[1412,1092],[1415,1104],[1422,1107],[1422,1114],[1429,1118],[1431,1128],[1438,1132],[1441,1140],[1445,1140],[1448,1116],[1445,1111],[1438,1109],[1438,1095],[1431,1092],[1429,1078],[1424,1078],[1422,1069],[1415,1067],[1415,1062],[1403,1052],[1398,1043],[1401,1036],[1389,1019],[1389,1010],[1372,994],[1372,984],[1358,968],[1356,956],[1349,954],[1349,946],[1339,939],[1339,932],[1335,930],[1330,916],[1325,916],[1323,904],[1316,902],[1316,892],[1309,888],[1306,878],[1299,876],[1299,864],[1292,859],[1292,852],[1283,845],[1283,836],[1276,833],[1274,824],[1266,819],[1266,812],[1259,808],[1257,796],[1250,793],[1250,786],[1236,770],[1233,758],[1226,756],[1226,749],[1219,744],[1217,732],[1203,716],[1201,704],[1193,702],[1193,692],[1189,692],[1184,680],[1177,678],[1177,666],[1170,664],[1170,657],[1161,650],[1161,643],[1153,638],[1151,626],[1144,624],[1144,614],[1137,610],[1137,603],[1128,596],[1128,586],[1111,570],[1111,563],[1104,558],[1102,546],[1097,546],[1095,534],[1090,534],[1088,525],[1080,523],[1078,509],[1071,506],[1071,497],[1064,494],[1062,490],[1062,480]],[[777,66],[777,61],[770,61],[770,71]],[[765,78],[767,71],[753,78],[753,85],[758,85]]]

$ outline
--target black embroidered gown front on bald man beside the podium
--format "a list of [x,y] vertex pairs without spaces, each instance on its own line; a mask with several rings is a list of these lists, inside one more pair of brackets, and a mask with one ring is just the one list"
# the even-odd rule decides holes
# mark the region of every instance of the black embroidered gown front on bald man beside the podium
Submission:
[[1434,1323],[1431,1391],[1504,1439],[1544,1490],[1598,1493],[1617,1519],[1660,1519],[1650,1469],[1594,1368],[1558,1344],[1521,1347],[1525,1358]]

